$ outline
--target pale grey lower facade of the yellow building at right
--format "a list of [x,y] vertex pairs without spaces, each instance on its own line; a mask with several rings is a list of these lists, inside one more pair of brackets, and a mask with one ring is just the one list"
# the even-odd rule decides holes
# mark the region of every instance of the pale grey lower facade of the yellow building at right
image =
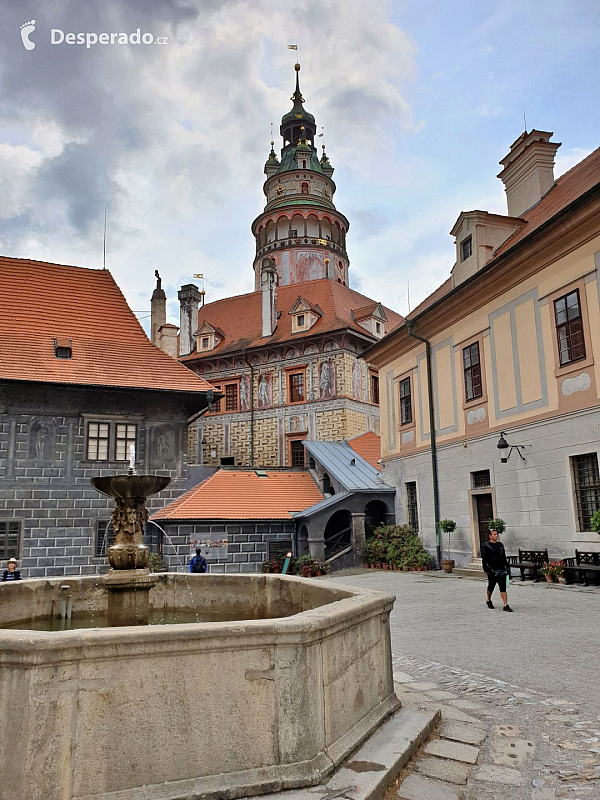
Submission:
[[[492,495],[494,516],[506,522],[506,551],[548,549],[550,558],[573,556],[575,549],[600,550],[600,536],[579,530],[571,459],[596,453],[600,460],[600,410],[591,409],[507,429],[510,444],[526,445],[525,462],[513,452],[500,461],[493,433],[466,442],[440,445],[438,470],[440,516],[456,521],[450,544],[442,534],[444,558],[457,566],[479,556],[474,498]],[[489,470],[490,487],[476,489],[473,473]],[[429,451],[391,459],[383,465],[387,483],[396,486],[396,518],[408,522],[406,484],[417,484],[419,530],[427,550],[435,554],[433,482]]]

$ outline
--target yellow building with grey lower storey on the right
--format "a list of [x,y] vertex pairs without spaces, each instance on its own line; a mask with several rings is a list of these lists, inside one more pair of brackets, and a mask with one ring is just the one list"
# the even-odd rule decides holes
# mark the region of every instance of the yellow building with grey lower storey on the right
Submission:
[[492,517],[508,553],[600,550],[600,150],[555,181],[551,136],[516,140],[508,214],[461,213],[450,278],[364,354],[396,518],[431,552],[455,520],[441,551],[457,565],[477,565]]

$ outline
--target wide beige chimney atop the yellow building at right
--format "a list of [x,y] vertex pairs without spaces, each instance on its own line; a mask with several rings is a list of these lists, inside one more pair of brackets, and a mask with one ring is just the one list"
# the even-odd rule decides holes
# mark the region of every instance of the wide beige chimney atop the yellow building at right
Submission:
[[522,217],[554,185],[554,156],[560,142],[551,142],[548,131],[525,131],[502,159],[498,175],[506,191],[508,215]]

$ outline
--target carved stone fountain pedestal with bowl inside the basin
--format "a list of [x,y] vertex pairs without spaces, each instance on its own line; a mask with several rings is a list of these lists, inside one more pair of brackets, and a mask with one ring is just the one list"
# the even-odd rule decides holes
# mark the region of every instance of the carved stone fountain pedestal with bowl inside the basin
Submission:
[[142,543],[148,521],[146,498],[171,482],[160,475],[107,475],[92,478],[92,486],[115,499],[111,522],[115,543],[108,548],[111,569],[104,578],[108,591],[108,624],[147,625],[150,589],[158,576],[148,569],[150,548]]

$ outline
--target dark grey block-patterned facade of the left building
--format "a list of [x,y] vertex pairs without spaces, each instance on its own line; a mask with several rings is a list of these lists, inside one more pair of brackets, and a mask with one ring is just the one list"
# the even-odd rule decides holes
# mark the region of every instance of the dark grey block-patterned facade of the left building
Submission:
[[138,472],[168,475],[148,503],[162,508],[186,489],[187,419],[202,406],[192,392],[120,390],[2,381],[0,385],[0,523],[18,521],[23,577],[89,575],[107,568],[96,557],[98,523],[113,501],[90,478],[125,472],[124,461],[86,458],[86,426],[135,424]]

